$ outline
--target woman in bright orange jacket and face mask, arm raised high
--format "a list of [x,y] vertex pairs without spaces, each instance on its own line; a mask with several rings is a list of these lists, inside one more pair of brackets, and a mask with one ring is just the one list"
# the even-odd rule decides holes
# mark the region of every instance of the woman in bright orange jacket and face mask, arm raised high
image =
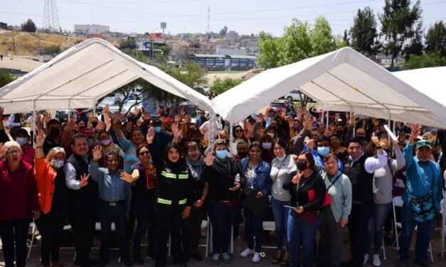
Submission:
[[42,236],[42,266],[50,266],[51,258],[51,267],[60,267],[63,266],[59,263],[60,236],[62,236],[68,204],[68,188],[65,185],[63,173],[66,154],[63,148],[55,147],[48,151],[45,158],[44,141],[45,133],[39,130],[36,136],[34,173],[42,210],[41,217],[36,220],[36,225]]

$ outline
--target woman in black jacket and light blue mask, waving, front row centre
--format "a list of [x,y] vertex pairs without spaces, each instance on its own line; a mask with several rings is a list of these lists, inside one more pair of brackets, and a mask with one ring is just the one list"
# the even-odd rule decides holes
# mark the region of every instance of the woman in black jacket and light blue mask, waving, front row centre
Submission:
[[226,141],[218,139],[211,153],[205,158],[203,176],[209,182],[208,213],[213,227],[212,262],[218,264],[220,257],[230,263],[228,254],[230,229],[233,227],[240,187],[245,185],[245,176],[232,158],[228,157]]

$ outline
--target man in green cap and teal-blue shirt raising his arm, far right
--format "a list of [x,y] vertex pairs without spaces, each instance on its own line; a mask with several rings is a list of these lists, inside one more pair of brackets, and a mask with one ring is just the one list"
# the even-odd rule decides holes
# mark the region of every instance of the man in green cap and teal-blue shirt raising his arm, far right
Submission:
[[420,140],[413,146],[418,135],[418,125],[412,126],[408,144],[404,148],[406,186],[401,209],[401,234],[398,266],[408,266],[410,241],[413,230],[418,227],[415,244],[415,264],[428,266],[428,248],[435,228],[435,219],[440,212],[442,178],[440,166],[430,160],[432,145]]

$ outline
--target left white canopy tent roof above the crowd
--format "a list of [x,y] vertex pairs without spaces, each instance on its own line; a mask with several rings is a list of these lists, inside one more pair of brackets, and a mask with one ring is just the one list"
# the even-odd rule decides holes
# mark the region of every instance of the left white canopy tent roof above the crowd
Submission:
[[0,107],[5,113],[93,107],[101,97],[139,77],[213,112],[207,97],[99,38],[85,40],[1,87]]

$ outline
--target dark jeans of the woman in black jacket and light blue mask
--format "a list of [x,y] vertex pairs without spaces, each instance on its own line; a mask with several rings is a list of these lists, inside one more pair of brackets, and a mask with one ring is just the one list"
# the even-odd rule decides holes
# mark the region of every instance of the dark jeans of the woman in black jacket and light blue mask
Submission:
[[224,205],[211,200],[209,201],[208,214],[212,224],[213,253],[228,252],[235,205]]

